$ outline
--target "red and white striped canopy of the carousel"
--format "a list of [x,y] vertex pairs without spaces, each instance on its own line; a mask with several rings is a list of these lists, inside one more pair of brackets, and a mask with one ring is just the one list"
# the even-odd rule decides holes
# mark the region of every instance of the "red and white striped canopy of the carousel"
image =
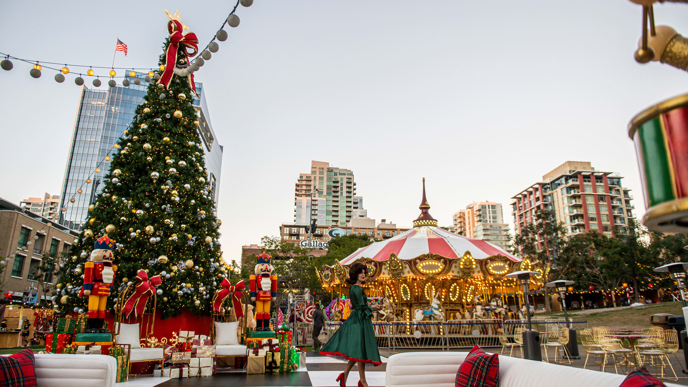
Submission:
[[436,226],[418,226],[388,240],[361,247],[339,263],[352,264],[360,258],[382,262],[388,260],[391,253],[400,260],[412,260],[427,253],[459,259],[465,251],[469,251],[475,260],[503,255],[513,262],[522,261],[521,258],[484,240],[460,236]]

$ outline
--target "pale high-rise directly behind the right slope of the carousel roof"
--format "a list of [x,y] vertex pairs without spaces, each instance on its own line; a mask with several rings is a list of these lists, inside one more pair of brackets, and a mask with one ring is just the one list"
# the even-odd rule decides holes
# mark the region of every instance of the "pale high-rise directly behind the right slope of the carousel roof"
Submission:
[[472,202],[453,216],[453,231],[469,238],[486,240],[506,249],[509,244],[509,225],[504,223],[502,203]]

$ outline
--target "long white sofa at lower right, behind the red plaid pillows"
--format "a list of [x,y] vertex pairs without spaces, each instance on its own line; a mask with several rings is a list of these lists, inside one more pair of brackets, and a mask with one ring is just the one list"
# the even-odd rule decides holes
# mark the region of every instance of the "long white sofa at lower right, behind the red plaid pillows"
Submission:
[[[454,387],[467,352],[407,352],[387,360],[385,387]],[[652,372],[652,367],[649,368]],[[625,375],[499,356],[500,387],[616,387]],[[667,387],[678,387],[663,381]]]

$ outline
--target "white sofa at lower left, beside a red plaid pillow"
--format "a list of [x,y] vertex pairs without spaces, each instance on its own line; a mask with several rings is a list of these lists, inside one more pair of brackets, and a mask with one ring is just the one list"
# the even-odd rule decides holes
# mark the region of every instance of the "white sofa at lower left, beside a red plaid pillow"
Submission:
[[36,353],[38,387],[115,387],[117,359],[107,355]]

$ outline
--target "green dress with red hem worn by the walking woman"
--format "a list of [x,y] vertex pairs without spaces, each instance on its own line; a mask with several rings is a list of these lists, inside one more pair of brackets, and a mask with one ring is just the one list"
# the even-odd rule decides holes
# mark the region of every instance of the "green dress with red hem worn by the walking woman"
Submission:
[[351,314],[327,340],[320,353],[338,359],[379,366],[382,361],[371,320],[373,310],[368,305],[368,296],[365,295],[361,286],[353,285],[349,290],[349,298]]

